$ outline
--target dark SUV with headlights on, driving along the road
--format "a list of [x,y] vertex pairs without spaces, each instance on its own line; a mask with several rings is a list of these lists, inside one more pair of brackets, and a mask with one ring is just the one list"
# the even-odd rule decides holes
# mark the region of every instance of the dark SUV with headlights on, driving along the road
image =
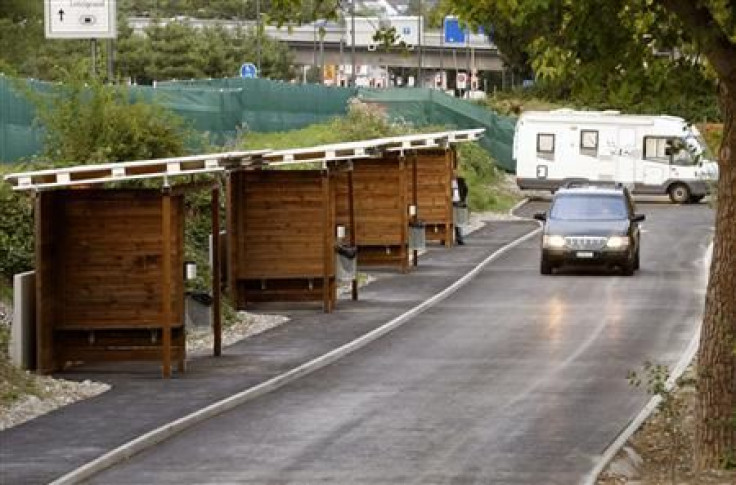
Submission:
[[639,223],[626,188],[573,187],[557,191],[544,221],[540,272],[563,264],[617,266],[626,276],[639,269]]

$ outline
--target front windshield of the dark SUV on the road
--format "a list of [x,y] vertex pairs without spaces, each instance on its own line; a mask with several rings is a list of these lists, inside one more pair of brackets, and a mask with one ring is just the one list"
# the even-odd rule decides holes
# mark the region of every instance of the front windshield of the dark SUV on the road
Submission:
[[558,195],[550,212],[552,219],[568,221],[605,221],[626,219],[623,197],[614,195]]

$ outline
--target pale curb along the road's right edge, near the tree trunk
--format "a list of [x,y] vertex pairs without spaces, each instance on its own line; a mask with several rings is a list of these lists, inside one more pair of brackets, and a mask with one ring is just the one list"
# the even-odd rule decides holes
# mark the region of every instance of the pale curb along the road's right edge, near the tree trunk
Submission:
[[[712,257],[713,243],[708,246],[708,249],[705,252],[705,257],[703,258],[703,273],[705,275],[706,283],[708,281],[708,268],[710,267]],[[670,377],[669,379],[667,379],[666,382],[667,389],[672,389],[672,386],[675,385],[677,379],[680,378],[682,373],[685,372],[685,369],[687,369],[690,363],[693,361],[693,358],[698,351],[699,344],[700,325],[698,325],[698,327],[695,329],[695,335],[693,335],[693,338],[692,340],[690,340],[690,343],[685,349],[685,352],[682,354],[680,360],[677,362],[677,364],[675,364],[675,367],[672,369],[672,373],[670,374]],[[596,464],[595,468],[593,468],[593,470],[580,482],[581,485],[595,485],[596,480],[598,480],[598,475],[603,472],[603,470],[606,468],[606,466],[608,466],[611,460],[613,460],[619,450],[621,450],[626,442],[629,441],[629,438],[631,438],[634,433],[641,427],[641,425],[644,424],[644,421],[649,418],[649,416],[654,412],[657,406],[659,406],[659,403],[661,401],[662,398],[660,396],[652,396],[647,405],[644,406],[644,409],[642,409],[641,412],[636,415],[634,420],[629,423],[626,429],[624,429],[621,434],[618,435],[618,437],[613,441],[613,443],[611,443],[608,448],[606,448],[606,450],[598,459],[598,463]]]

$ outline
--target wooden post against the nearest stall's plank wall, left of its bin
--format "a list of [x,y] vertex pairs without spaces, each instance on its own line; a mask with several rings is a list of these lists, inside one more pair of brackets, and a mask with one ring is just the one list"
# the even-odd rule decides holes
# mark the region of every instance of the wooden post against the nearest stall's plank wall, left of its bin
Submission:
[[171,377],[171,188],[166,187],[161,197],[161,372]]

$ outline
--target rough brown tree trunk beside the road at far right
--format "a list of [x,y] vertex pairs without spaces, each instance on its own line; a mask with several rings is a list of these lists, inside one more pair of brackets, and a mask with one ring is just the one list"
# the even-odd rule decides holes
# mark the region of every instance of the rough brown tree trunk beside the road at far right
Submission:
[[701,470],[736,460],[736,83],[721,81],[721,107],[716,234],[698,353]]

